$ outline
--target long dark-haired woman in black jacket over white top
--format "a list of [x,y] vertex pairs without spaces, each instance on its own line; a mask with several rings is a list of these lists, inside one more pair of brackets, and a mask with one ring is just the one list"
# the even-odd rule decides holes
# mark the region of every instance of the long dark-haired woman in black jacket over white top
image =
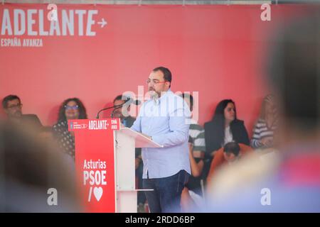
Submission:
[[245,129],[245,123],[237,119],[235,102],[231,99],[220,101],[215,108],[215,114],[212,121],[206,122],[205,140],[206,140],[206,157],[204,176],[208,175],[210,162],[217,150],[223,148],[226,143],[237,142],[250,145],[249,136]]

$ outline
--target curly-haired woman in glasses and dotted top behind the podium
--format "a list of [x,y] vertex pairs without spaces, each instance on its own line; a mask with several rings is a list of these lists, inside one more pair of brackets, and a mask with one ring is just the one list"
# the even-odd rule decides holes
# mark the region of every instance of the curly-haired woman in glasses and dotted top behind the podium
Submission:
[[68,131],[68,120],[73,119],[87,119],[85,106],[78,98],[63,101],[59,108],[58,123],[53,126],[60,149],[75,160],[75,136]]

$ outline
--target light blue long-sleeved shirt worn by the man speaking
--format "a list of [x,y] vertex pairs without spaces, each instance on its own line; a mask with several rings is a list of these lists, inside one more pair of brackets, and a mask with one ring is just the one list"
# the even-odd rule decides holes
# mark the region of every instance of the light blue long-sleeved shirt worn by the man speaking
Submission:
[[163,148],[142,148],[144,173],[142,178],[162,178],[180,170],[191,174],[188,131],[190,110],[186,102],[169,89],[159,99],[150,99],[142,105],[134,131],[150,135]]

